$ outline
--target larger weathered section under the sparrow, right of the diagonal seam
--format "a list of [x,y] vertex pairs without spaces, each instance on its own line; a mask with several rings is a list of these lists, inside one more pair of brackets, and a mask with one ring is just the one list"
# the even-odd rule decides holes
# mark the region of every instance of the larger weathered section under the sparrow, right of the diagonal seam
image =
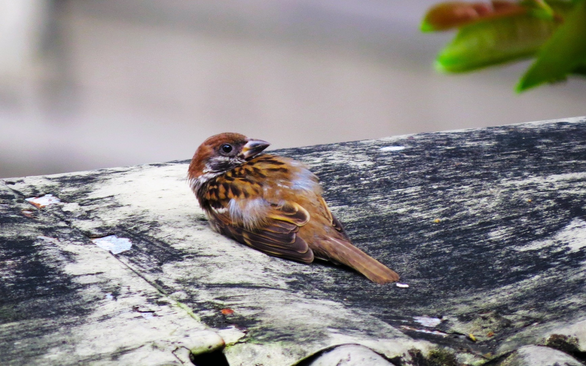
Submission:
[[355,244],[408,288],[215,234],[185,182],[187,161],[6,187],[21,199],[59,197],[64,204],[39,211],[86,244],[128,238],[132,248],[112,260],[192,310],[200,329],[221,334],[232,366],[291,365],[346,343],[403,364],[437,347],[462,364],[546,343],[573,344],[583,357],[584,118],[279,153],[311,166]]

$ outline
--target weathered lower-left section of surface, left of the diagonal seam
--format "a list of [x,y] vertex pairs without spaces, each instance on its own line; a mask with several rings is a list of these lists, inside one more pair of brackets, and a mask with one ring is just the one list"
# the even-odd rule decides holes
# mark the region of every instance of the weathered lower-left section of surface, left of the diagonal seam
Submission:
[[223,346],[53,214],[66,207],[36,210],[0,183],[1,365],[180,365]]

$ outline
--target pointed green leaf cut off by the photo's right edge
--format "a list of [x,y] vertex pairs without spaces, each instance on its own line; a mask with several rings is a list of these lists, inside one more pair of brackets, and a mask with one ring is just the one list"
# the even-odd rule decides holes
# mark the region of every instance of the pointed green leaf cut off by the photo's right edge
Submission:
[[574,70],[582,70],[580,67],[585,63],[586,0],[579,0],[521,78],[517,84],[517,92],[543,83],[564,80]]

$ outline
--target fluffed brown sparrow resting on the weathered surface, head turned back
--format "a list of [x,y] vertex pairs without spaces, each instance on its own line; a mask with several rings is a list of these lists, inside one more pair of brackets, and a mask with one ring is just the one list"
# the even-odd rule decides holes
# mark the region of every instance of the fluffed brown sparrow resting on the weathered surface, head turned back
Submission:
[[352,244],[308,166],[265,153],[269,145],[224,132],[197,148],[188,182],[212,229],[265,254],[308,264],[319,258],[376,283],[397,282],[396,272]]

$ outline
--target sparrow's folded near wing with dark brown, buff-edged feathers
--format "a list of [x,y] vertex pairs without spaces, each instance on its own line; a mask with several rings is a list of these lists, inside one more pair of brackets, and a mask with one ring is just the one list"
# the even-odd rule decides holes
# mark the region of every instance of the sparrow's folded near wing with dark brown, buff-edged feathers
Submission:
[[297,232],[309,221],[309,213],[294,202],[271,205],[267,220],[260,228],[234,225],[225,217],[217,220],[222,233],[270,255],[311,263],[314,253]]

